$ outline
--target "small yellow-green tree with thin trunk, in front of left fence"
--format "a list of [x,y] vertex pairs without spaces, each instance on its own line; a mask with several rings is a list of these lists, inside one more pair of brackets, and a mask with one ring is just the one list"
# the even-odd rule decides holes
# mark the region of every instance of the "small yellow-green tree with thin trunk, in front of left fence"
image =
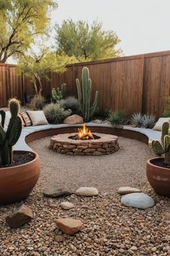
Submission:
[[30,52],[22,56],[17,64],[17,72],[24,74],[33,83],[35,95],[41,95],[43,90],[42,79],[49,80],[48,72],[63,73],[66,71],[66,64],[75,63],[76,59],[66,54],[56,54],[48,47],[40,47],[40,52]]

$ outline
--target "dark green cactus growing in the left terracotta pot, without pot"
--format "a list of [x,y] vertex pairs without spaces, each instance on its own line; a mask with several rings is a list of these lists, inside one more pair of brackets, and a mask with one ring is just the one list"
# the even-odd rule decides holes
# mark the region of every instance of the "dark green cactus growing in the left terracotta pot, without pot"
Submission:
[[4,131],[4,116],[5,112],[1,111],[2,121],[0,124],[0,156],[1,165],[12,163],[12,146],[15,145],[22,131],[22,120],[18,116],[19,114],[19,101],[16,98],[12,98],[9,101],[9,110],[12,117],[9,121],[6,132]]

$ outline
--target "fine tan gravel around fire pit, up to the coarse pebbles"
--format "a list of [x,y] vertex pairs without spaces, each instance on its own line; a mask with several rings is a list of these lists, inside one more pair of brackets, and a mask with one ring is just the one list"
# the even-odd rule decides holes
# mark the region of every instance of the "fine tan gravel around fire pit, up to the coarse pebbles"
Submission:
[[121,186],[143,187],[147,183],[146,161],[152,155],[148,145],[119,138],[120,150],[112,155],[71,156],[48,149],[50,137],[30,143],[42,162],[45,185],[67,184],[79,187],[97,187],[115,191]]

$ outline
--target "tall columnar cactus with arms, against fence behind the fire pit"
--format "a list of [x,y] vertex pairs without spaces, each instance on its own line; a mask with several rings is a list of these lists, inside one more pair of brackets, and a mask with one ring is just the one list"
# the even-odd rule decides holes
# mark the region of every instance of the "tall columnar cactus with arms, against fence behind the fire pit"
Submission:
[[92,116],[94,115],[96,108],[97,108],[97,101],[98,101],[99,93],[98,93],[98,91],[96,91],[94,103],[90,107],[91,79],[89,78],[89,69],[87,67],[84,67],[82,69],[81,80],[82,80],[82,90],[81,90],[79,79],[78,78],[76,79],[78,100],[79,100],[79,104],[81,106],[81,111],[82,111],[82,114],[84,117],[84,121],[90,121]]

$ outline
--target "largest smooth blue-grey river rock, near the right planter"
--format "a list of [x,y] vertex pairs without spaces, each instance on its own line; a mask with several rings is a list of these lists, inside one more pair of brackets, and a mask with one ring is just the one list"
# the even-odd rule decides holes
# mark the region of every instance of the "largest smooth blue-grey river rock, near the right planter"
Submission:
[[121,198],[121,202],[125,206],[139,209],[147,209],[155,205],[155,201],[153,200],[153,198],[144,193],[132,193],[124,195]]

